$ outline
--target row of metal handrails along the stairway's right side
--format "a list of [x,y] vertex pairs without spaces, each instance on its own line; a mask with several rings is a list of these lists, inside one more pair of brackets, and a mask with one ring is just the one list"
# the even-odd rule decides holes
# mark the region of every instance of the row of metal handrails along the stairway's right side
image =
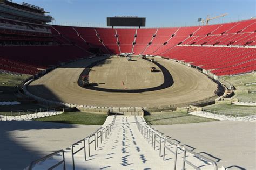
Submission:
[[190,166],[192,166],[195,169],[200,169],[200,167],[197,167],[196,165],[194,165],[191,161],[186,160],[186,153],[189,152],[190,154],[192,154],[195,158],[197,158],[200,161],[203,162],[207,162],[207,164],[211,164],[213,165],[213,169],[217,170],[217,164],[215,161],[208,159],[206,157],[204,157],[203,155],[200,155],[196,152],[192,152],[190,150],[188,150],[187,148],[183,148],[180,147],[178,145],[179,141],[176,139],[170,139],[171,137],[169,136],[164,136],[163,133],[159,132],[158,130],[152,128],[150,125],[147,125],[144,121],[143,122],[139,122],[137,117],[135,117],[135,121],[136,121],[136,125],[137,128],[140,132],[140,134],[142,134],[143,138],[146,140],[146,142],[148,144],[151,145],[151,147],[153,148],[153,150],[156,150],[156,148],[158,147],[159,149],[159,156],[163,157],[163,160],[167,160],[166,159],[166,152],[170,152],[171,154],[174,155],[173,157],[173,169],[175,170],[177,167],[177,155],[180,154],[178,153],[178,148],[179,150],[181,150],[183,152],[183,165],[182,165],[182,169],[185,169],[185,164],[188,164]]

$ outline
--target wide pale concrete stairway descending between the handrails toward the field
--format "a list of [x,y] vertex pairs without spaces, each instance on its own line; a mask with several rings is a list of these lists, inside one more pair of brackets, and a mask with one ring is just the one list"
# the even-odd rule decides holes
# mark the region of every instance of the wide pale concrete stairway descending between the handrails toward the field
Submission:
[[[151,135],[153,131],[156,134],[154,137]],[[200,169],[214,169],[207,158],[202,156],[199,159],[192,151],[174,144],[173,140],[165,140],[166,138],[170,137],[164,137],[148,126],[143,116],[109,116],[94,134],[64,150],[65,168],[175,169],[176,162],[176,169],[182,169],[186,150],[186,161]],[[174,154],[176,150],[177,154]],[[62,160],[63,154],[60,152],[49,159],[37,161],[31,165],[31,169],[48,169]],[[185,169],[192,169],[188,164],[190,163],[185,165]],[[63,169],[63,166],[64,164],[59,164],[55,169]],[[217,168],[216,164],[215,166]]]

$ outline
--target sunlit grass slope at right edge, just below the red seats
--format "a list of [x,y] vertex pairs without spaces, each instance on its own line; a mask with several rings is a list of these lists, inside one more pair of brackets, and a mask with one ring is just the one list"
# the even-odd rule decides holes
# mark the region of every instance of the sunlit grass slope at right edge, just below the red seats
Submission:
[[248,83],[256,83],[256,73],[244,74],[239,76],[223,76],[223,79],[232,83],[239,101],[256,101],[256,94],[248,94],[248,90],[256,91],[256,84],[247,85]]

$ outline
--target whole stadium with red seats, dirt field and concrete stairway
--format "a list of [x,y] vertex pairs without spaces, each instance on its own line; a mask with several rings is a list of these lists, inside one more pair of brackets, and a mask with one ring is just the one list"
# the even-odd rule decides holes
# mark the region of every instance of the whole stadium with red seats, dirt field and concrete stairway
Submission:
[[0,0],[1,170],[255,169],[254,16],[90,27],[48,13]]

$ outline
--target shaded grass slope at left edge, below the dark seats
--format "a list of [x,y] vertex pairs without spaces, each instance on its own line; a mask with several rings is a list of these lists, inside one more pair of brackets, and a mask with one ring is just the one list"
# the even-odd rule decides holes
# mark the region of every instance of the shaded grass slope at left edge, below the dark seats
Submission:
[[10,75],[6,73],[0,73],[0,86],[17,86],[23,80],[28,79],[30,75],[22,74],[18,75]]

